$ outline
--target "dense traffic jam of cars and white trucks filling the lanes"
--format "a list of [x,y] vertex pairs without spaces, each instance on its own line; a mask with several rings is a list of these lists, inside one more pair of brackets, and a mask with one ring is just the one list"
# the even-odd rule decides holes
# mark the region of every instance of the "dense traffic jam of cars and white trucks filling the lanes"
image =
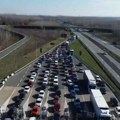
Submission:
[[[103,98],[103,94],[106,94],[105,83],[101,81],[98,75],[94,75],[94,79],[91,71],[84,70],[81,62],[77,61],[75,63],[74,50],[70,48],[70,43],[71,39],[39,58],[35,63],[35,69],[31,71],[26,85],[16,97],[13,106],[9,108],[5,120],[111,119],[109,107]],[[85,86],[84,84],[82,85],[82,82]],[[22,102],[31,89],[35,89],[36,84],[39,89],[37,89],[35,102],[30,107],[29,112],[24,111],[23,107],[21,107]],[[101,88],[97,87],[98,91],[96,90],[97,85],[102,86]],[[86,94],[90,95],[92,101],[87,106],[87,110],[92,109],[93,114],[91,115],[92,117],[88,118],[86,117],[87,114],[85,114],[87,113],[85,111],[86,103],[83,104],[84,101],[81,102],[80,97],[85,94],[82,93],[84,89],[87,89],[88,92]],[[95,91],[90,89],[95,89]],[[99,94],[101,100],[105,102],[107,113],[105,113],[106,108],[103,108],[104,113],[102,113],[102,109],[97,103],[99,100],[96,98],[96,94]],[[82,99],[84,100],[85,98]],[[94,113],[97,117],[95,117]]]

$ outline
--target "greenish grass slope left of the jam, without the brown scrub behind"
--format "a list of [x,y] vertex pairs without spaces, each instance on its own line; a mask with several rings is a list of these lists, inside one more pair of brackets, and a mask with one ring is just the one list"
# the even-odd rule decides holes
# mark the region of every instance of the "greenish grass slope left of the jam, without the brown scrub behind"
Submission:
[[[20,69],[24,65],[33,61],[35,58],[44,54],[54,46],[63,42],[64,40],[65,39],[63,38],[58,38],[40,46],[43,49],[42,53],[40,53],[40,47],[37,47],[37,49],[34,49],[33,51],[29,50],[30,47],[28,46],[30,45],[31,41],[27,42],[26,44],[24,44],[23,46],[21,46],[20,48],[18,48],[17,50],[0,60],[0,78],[2,79],[7,75],[10,75],[12,72],[15,72],[16,70]],[[51,42],[54,43],[54,45],[51,45]],[[25,51],[30,52],[27,52],[27,54],[25,54]]]

